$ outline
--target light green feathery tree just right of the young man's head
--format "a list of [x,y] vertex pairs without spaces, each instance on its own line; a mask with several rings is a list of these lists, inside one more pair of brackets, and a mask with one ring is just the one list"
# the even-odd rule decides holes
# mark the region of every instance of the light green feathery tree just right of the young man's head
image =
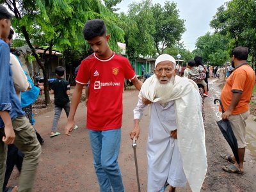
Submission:
[[120,27],[125,31],[124,39],[127,55],[131,60],[138,56],[151,56],[156,53],[152,34],[154,33],[151,0],[129,5],[128,14],[120,13]]

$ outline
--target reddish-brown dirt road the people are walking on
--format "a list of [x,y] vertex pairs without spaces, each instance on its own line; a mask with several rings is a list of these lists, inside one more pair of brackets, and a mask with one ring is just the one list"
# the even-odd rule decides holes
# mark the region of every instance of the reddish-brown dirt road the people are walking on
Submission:
[[[221,166],[228,164],[228,162],[221,159],[220,154],[229,154],[231,150],[216,125],[216,120],[220,120],[220,114],[218,114],[218,107],[213,104],[213,99],[220,95],[218,85],[211,81],[209,88],[211,97],[205,99],[205,138],[209,166],[201,191],[256,191],[256,156],[253,156],[249,150],[246,150],[244,175],[226,173],[221,170]],[[127,90],[124,92],[122,144],[118,161],[122,170],[125,191],[138,191],[131,147],[132,141],[129,138],[129,132],[133,127],[132,109],[136,105],[137,99],[138,91]],[[76,113],[76,124],[79,129],[72,132],[71,136],[64,135],[63,128],[67,122],[67,117],[62,113],[58,125],[58,131],[61,132],[61,135],[49,138],[53,115],[54,112],[50,111],[36,116],[35,128],[42,134],[45,143],[42,146],[42,156],[33,191],[99,191],[92,164],[88,131],[84,128],[86,124],[84,103],[79,104]],[[137,148],[141,191],[147,191],[148,118],[147,110],[141,120],[141,136]],[[17,177],[18,173],[15,170],[10,185],[17,185]],[[177,191],[191,190],[187,184],[186,188],[178,188]]]

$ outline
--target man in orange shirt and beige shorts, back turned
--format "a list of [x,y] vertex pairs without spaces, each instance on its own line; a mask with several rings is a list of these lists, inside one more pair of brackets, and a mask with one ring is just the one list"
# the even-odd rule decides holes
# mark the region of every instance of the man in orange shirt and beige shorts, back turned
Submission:
[[[228,77],[227,82],[221,91],[221,102],[225,113],[222,114],[223,120],[229,120],[234,135],[237,139],[239,164],[234,156],[221,155],[227,161],[233,163],[230,166],[223,166],[225,172],[239,173],[244,172],[244,152],[246,147],[246,122],[250,115],[249,102],[255,84],[255,73],[246,62],[248,58],[248,48],[236,47],[232,51],[232,67],[234,71]],[[221,111],[221,110],[220,110]]]

